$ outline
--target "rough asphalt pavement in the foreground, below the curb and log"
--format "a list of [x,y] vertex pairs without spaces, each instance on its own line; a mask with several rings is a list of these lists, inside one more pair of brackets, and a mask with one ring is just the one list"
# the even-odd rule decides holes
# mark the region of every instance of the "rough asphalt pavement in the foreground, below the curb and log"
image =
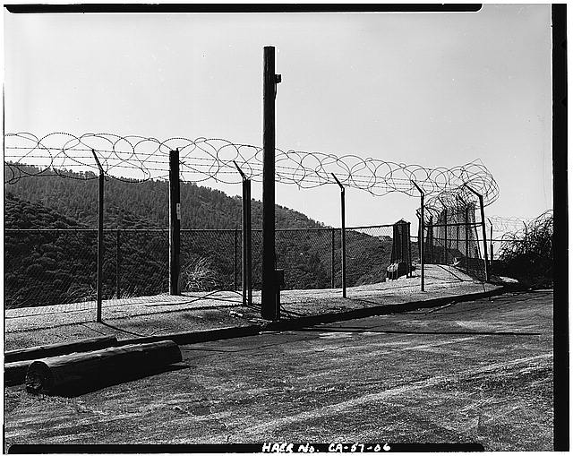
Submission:
[[182,346],[80,397],[6,388],[12,443],[482,443],[552,450],[552,291]]

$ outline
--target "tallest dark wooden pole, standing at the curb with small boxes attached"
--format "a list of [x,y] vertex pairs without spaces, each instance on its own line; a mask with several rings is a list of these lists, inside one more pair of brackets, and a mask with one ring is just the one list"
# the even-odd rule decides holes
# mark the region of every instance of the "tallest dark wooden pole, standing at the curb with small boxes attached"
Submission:
[[275,273],[275,98],[280,74],[275,73],[275,47],[265,46],[262,75],[262,289],[261,316],[278,320]]

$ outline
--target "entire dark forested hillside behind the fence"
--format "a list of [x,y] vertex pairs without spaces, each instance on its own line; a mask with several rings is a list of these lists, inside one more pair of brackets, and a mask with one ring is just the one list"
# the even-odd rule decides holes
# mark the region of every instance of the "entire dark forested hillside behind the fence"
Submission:
[[[5,190],[6,307],[95,299],[98,180],[78,174],[38,176],[6,185]],[[240,198],[192,184],[182,185],[181,195],[183,291],[241,288],[241,236],[236,229],[240,228]],[[104,298],[167,293],[167,183],[110,179],[105,207]],[[300,212],[278,207],[276,213],[278,228],[303,228],[277,231],[277,267],[285,270],[286,288],[329,288],[333,272],[339,287],[339,231],[305,229],[321,224]],[[261,202],[252,202],[252,219],[252,283],[257,289],[261,287]],[[348,286],[385,279],[389,237],[348,230],[346,251]]]

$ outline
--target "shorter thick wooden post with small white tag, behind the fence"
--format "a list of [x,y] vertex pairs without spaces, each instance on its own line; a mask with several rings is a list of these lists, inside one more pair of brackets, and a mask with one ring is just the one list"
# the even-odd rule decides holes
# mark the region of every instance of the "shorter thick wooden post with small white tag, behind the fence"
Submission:
[[169,294],[181,294],[179,284],[181,249],[181,203],[179,150],[169,151]]

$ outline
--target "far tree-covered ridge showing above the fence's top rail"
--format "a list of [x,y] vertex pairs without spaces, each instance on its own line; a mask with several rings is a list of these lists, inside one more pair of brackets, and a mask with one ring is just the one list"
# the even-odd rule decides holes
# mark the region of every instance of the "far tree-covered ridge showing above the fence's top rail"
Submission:
[[[38,168],[24,167],[30,174]],[[62,174],[62,173],[60,173]],[[5,185],[6,194],[73,218],[89,228],[98,223],[98,178],[93,173],[67,171],[67,177],[42,173]],[[149,180],[123,182],[107,178],[105,184],[105,228],[167,228],[168,183]],[[181,183],[181,228],[240,228],[242,202],[218,190]],[[278,228],[318,228],[322,224],[303,213],[276,208]],[[262,203],[252,201],[252,228],[262,226]]]

